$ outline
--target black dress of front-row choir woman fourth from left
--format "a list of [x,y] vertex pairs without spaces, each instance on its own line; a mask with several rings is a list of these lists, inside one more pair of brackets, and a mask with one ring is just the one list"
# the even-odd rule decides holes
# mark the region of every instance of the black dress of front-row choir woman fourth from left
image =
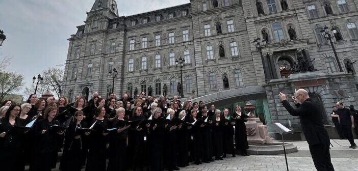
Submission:
[[[108,120],[93,119],[93,123],[97,121],[98,124],[104,128],[108,128]],[[93,124],[92,123],[92,124]],[[96,123],[96,124],[97,124]],[[105,171],[106,170],[106,149],[109,144],[108,135],[103,135],[103,132],[93,129],[89,135],[89,151],[86,164],[86,171]]]

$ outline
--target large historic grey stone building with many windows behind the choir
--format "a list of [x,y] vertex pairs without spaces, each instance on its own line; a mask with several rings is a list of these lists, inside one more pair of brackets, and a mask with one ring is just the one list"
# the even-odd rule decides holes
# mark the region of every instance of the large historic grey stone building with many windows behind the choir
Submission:
[[[346,67],[358,54],[357,4],[353,0],[191,0],[120,16],[114,0],[96,0],[85,24],[68,39],[64,94],[71,99],[76,94],[129,91],[133,96],[135,88],[140,93],[151,87],[152,94],[159,96],[165,84],[171,97],[178,94],[181,82],[175,61],[182,58],[184,97],[228,107],[251,101],[266,124],[288,119],[298,123],[280,105],[277,94],[305,88],[321,105],[328,123],[335,102],[356,105],[358,99],[358,79]],[[335,30],[331,36],[342,72],[329,41],[321,35],[324,26]],[[253,43],[256,38],[261,38],[262,55]],[[315,70],[293,72],[300,51],[306,58],[301,68],[312,64]],[[356,63],[351,66],[354,70]],[[114,68],[118,75],[112,90],[108,73]]]

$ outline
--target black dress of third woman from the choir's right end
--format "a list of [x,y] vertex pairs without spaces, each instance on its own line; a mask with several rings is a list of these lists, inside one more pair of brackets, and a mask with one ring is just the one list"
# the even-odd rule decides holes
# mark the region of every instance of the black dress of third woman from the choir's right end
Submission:
[[218,160],[222,153],[222,122],[213,120],[213,151],[215,160]]

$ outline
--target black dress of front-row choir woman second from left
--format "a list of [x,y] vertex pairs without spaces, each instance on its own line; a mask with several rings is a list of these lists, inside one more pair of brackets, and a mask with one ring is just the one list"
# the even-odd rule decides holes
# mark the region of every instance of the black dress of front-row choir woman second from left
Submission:
[[[30,171],[51,170],[56,165],[58,133],[49,129],[53,125],[60,125],[60,123],[57,120],[42,119],[35,125],[34,155]],[[46,132],[42,134],[42,130]]]

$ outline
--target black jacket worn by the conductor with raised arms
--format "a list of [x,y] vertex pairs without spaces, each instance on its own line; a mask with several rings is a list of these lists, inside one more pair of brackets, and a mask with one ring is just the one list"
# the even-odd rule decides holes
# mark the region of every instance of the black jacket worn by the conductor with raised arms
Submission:
[[302,104],[296,104],[296,109],[287,100],[282,101],[282,104],[290,115],[299,116],[303,134],[310,146],[329,144],[329,136],[326,129],[324,129],[320,109],[311,99],[305,100]]

